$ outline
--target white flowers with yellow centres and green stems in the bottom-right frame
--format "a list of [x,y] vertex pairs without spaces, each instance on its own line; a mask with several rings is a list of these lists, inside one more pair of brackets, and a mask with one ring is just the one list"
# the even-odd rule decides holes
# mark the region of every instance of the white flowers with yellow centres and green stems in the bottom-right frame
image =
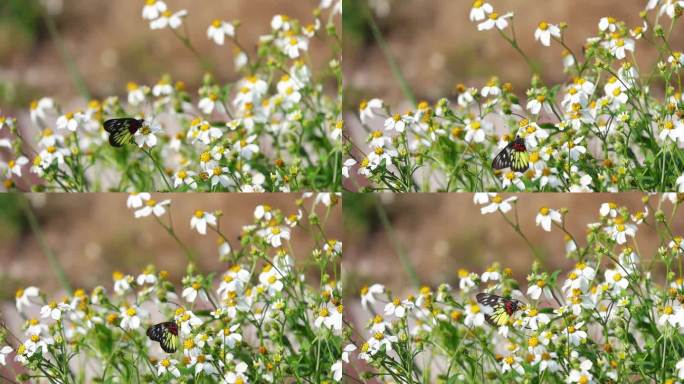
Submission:
[[[671,201],[675,217],[680,198],[663,195],[658,207],[664,209],[663,203]],[[505,214],[517,204],[515,197],[504,200],[496,194],[477,194],[474,200],[485,205],[483,214]],[[680,300],[684,278],[670,273],[665,277],[668,285],[659,285],[661,279],[651,276],[650,267],[641,263],[636,240],[629,240],[636,235],[638,225],[653,226],[648,215],[650,200],[644,196],[644,209],[639,212],[603,203],[600,222],[587,225],[586,247],[579,247],[567,232],[566,209],[541,208],[537,225],[545,231],[558,226],[573,244],[566,246],[567,256],[577,262],[564,278],[560,270],[544,272],[535,262],[527,275],[526,294],[513,279],[513,272],[502,269],[499,263],[481,274],[460,269],[458,288],[449,283],[436,289],[425,286],[405,298],[393,296],[382,284],[363,287],[361,303],[370,315],[368,337],[354,336],[343,350],[344,361],[355,353],[374,367],[372,372],[378,377],[412,377],[414,372],[396,367],[418,364],[418,372],[427,369],[425,364],[432,364],[429,362],[446,361],[446,365],[430,365],[432,379],[478,381],[500,377],[516,382],[523,377],[543,377],[586,384],[621,382],[657,372],[664,382],[675,383],[675,377],[684,376],[681,351],[672,350],[662,360],[645,357],[644,362],[658,363],[648,372],[628,358],[644,348],[663,348],[669,343],[664,339],[672,337],[673,331],[684,335]],[[627,226],[629,221],[634,223],[629,224],[632,232],[624,237],[625,231],[618,226]],[[665,236],[670,237],[669,242],[664,240],[667,247],[659,248],[656,258],[676,263],[684,255],[684,241],[671,232]],[[593,253],[599,249],[606,254]],[[501,295],[502,302],[497,304],[501,307],[479,297],[476,300],[474,291]],[[506,300],[510,303],[504,303]],[[503,321],[491,322],[502,313]],[[425,359],[404,358],[417,354]],[[462,363],[455,363],[454,356]],[[351,374],[354,367],[349,369]]]

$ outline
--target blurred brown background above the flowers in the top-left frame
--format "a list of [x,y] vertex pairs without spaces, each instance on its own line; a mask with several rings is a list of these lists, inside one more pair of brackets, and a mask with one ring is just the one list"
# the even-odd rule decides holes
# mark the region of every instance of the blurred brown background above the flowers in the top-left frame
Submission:
[[[234,79],[232,44],[207,38],[214,19],[240,20],[241,44],[254,55],[260,35],[270,32],[275,14],[312,22],[319,0],[165,0],[169,9],[187,9],[184,23],[198,51],[216,64],[220,80]],[[45,21],[52,18],[66,50],[73,56],[94,97],[122,95],[126,83],[154,84],[162,74],[183,80],[188,89],[201,82],[198,60],[170,29],[152,31],[142,19],[143,0],[2,0],[0,2],[0,110],[16,113],[31,100],[53,96],[61,103],[79,96]],[[329,55],[314,41],[314,61]]]

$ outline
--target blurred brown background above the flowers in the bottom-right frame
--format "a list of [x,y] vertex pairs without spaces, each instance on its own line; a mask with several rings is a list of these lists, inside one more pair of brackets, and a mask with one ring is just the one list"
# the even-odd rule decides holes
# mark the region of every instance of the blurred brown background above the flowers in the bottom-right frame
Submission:
[[[615,202],[628,207],[632,213],[643,210],[642,193],[517,196],[521,230],[543,256],[548,271],[570,269],[574,262],[565,258],[562,231],[554,228],[545,232],[535,225],[541,207],[568,208],[567,228],[580,246],[586,244],[587,224],[599,221],[602,203]],[[660,196],[651,197],[653,207],[657,206],[658,199]],[[387,212],[421,284],[432,287],[443,282],[457,284],[459,268],[482,273],[491,263],[499,262],[502,267],[510,267],[513,276],[526,289],[525,277],[534,260],[532,251],[499,213],[482,215],[482,206],[473,203],[473,194],[381,194],[379,197],[346,194],[343,270],[345,291],[352,300],[358,300],[358,291],[363,285],[373,283],[385,284],[397,295],[415,291],[399,262],[394,243],[378,218],[377,201],[381,201]],[[671,209],[669,202],[663,204],[668,217]],[[513,217],[513,211],[509,216]],[[649,223],[652,220],[653,212],[650,212]],[[658,234],[644,224],[638,228],[641,255],[650,259],[659,245]],[[684,234],[684,215],[675,218],[673,231],[675,235]]]

